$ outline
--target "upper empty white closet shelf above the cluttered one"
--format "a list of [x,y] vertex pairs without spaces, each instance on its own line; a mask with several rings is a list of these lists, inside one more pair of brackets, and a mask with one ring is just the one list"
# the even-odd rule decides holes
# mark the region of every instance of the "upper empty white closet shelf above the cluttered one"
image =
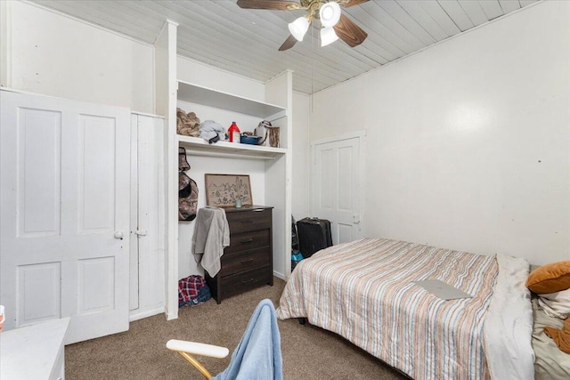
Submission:
[[222,93],[199,85],[191,85],[183,81],[178,81],[178,100],[262,117],[269,121],[287,116],[287,109],[282,107],[230,93]]

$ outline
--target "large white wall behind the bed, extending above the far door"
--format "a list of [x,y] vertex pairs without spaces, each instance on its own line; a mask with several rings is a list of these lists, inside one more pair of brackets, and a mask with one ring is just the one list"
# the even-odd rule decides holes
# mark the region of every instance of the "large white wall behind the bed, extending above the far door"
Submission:
[[365,234],[570,257],[570,2],[314,95],[311,140],[366,129]]

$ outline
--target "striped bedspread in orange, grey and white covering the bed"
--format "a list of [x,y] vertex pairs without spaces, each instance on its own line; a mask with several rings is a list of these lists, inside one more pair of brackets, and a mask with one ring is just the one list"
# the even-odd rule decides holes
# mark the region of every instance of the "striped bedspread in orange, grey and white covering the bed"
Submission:
[[[306,317],[420,379],[487,379],[485,311],[494,257],[388,239],[329,247],[291,274],[277,315]],[[473,295],[444,301],[412,281],[439,279]]]

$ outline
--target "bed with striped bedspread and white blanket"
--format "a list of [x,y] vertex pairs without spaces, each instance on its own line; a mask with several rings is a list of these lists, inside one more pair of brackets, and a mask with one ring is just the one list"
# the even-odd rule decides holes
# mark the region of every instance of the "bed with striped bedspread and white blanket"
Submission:
[[[297,264],[277,315],[305,318],[416,380],[532,379],[528,273],[520,258],[360,239]],[[444,301],[413,282],[422,279],[472,297]]]

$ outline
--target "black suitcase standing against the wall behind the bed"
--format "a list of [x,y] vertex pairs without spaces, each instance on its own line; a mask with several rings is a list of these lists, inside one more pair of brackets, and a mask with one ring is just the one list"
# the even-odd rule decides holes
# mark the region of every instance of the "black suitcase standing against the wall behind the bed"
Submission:
[[303,257],[332,246],[330,222],[326,219],[305,218],[297,222],[299,251]]

